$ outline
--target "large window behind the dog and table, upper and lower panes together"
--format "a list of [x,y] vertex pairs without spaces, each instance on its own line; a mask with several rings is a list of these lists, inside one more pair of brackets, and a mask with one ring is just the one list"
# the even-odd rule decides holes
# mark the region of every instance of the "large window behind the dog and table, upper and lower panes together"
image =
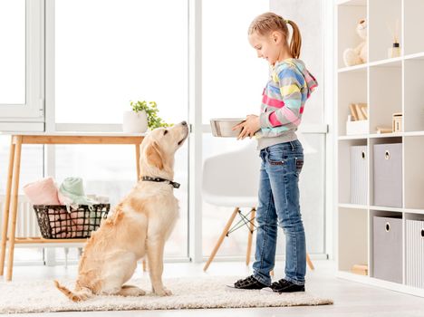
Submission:
[[[54,109],[58,125],[120,124],[130,101],[188,120],[188,0],[61,0],[54,7]],[[100,10],[101,8],[101,10]],[[95,23],[93,21],[95,20]],[[126,149],[124,149],[126,148]],[[84,179],[114,206],[135,185],[134,147],[56,146],[56,178]],[[188,256],[188,145],[178,150],[178,224],[167,256]]]

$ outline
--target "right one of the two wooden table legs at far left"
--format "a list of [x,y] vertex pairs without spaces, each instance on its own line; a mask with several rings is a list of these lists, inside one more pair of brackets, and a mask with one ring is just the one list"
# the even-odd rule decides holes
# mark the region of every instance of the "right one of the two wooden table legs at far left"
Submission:
[[12,185],[12,222],[9,234],[9,256],[7,258],[7,275],[6,281],[12,280],[12,272],[14,265],[14,237],[16,234],[16,217],[17,217],[17,203],[18,203],[18,190],[19,190],[19,173],[21,171],[21,149],[22,149],[22,136],[16,136],[16,153],[14,156],[14,180]]

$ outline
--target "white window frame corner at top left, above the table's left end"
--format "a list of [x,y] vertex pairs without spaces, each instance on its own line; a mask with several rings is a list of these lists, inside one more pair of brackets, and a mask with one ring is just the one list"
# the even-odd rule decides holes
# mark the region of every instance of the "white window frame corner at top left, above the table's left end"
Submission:
[[25,103],[0,104],[0,130],[44,129],[44,0],[25,1]]

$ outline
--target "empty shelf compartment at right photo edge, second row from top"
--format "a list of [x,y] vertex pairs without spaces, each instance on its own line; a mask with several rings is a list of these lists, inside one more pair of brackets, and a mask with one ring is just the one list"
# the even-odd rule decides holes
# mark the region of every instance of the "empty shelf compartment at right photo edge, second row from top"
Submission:
[[424,59],[404,62],[404,131],[424,130]]

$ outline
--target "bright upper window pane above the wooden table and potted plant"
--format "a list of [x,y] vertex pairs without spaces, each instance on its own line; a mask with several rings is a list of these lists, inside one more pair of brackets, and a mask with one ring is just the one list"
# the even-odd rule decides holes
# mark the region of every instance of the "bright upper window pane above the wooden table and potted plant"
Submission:
[[188,0],[55,2],[57,123],[121,123],[130,101],[188,115]]

